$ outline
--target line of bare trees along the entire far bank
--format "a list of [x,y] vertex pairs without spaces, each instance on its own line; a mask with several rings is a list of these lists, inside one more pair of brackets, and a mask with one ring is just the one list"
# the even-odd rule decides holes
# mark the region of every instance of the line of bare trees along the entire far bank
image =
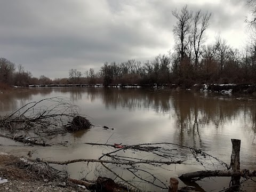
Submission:
[[82,73],[69,70],[69,78],[50,79],[41,75],[33,77],[23,66],[0,58],[0,82],[9,85],[29,84],[181,84],[189,87],[195,83],[256,83],[256,14],[255,1],[247,2],[252,7],[252,17],[246,22],[250,27],[250,39],[243,49],[231,47],[226,39],[217,35],[206,44],[211,13],[202,10],[190,11],[185,5],[173,10],[176,19],[173,26],[174,49],[159,54],[153,60],[105,62],[95,73],[93,68]]

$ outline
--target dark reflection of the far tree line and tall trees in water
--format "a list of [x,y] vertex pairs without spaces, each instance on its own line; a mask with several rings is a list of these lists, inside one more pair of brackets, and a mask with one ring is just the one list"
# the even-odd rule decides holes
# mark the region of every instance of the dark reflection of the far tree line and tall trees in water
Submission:
[[89,98],[102,99],[106,108],[151,108],[156,113],[170,114],[170,118],[172,116],[176,122],[174,137],[181,145],[203,147],[203,127],[212,124],[218,132],[225,123],[238,119],[241,111],[246,111],[247,121],[254,122],[252,124],[256,133],[256,112],[247,100],[188,91],[141,89],[94,89],[88,90],[87,95]]

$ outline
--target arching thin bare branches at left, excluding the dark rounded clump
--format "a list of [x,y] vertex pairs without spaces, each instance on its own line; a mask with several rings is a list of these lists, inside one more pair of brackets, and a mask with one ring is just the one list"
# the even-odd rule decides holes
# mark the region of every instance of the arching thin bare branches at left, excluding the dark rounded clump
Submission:
[[78,106],[67,98],[42,99],[27,103],[12,113],[0,117],[0,128],[12,133],[23,130],[25,135],[32,130],[34,134],[40,136],[66,133],[63,128],[71,125],[73,119],[78,116],[78,111]]

